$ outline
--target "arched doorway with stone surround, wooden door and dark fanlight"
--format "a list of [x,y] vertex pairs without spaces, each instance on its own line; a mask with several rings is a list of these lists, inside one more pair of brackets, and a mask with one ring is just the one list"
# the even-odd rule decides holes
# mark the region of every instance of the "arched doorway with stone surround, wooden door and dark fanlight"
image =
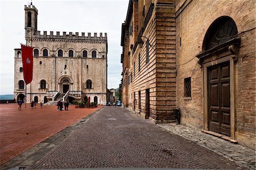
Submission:
[[203,68],[204,129],[234,139],[234,65],[240,44],[236,23],[229,16],[214,20],[197,55]]

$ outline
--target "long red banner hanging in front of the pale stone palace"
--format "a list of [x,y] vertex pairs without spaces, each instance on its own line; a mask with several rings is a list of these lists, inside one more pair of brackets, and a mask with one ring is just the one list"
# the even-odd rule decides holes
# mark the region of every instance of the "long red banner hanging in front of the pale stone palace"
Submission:
[[26,84],[30,84],[33,77],[33,48],[23,45],[22,46],[22,65],[23,77]]

